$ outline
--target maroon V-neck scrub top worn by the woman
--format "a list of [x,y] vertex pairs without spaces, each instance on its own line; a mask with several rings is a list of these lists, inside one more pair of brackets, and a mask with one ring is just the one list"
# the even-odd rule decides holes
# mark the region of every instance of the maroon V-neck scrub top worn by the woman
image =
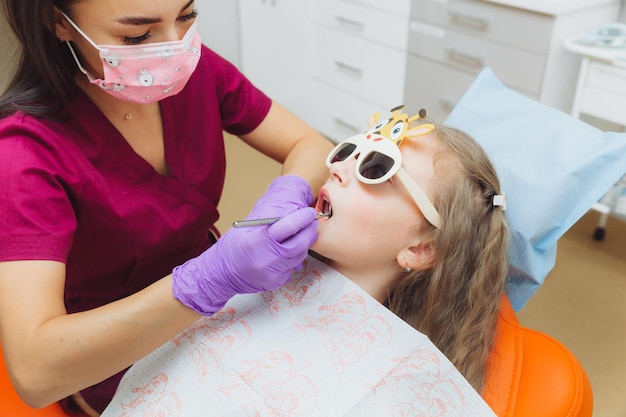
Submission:
[[[83,93],[56,121],[0,119],[0,261],[66,263],[70,313],[133,294],[211,245],[223,131],[252,131],[271,101],[203,47],[184,90],[160,105],[168,176]],[[102,411],[118,381],[83,395]]]

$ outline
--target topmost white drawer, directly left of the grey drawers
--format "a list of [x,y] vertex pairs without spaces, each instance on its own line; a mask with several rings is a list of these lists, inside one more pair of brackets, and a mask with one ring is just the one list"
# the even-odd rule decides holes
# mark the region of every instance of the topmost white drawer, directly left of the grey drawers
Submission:
[[318,24],[406,50],[408,13],[404,16],[381,13],[379,10],[340,0],[318,0],[318,5]]

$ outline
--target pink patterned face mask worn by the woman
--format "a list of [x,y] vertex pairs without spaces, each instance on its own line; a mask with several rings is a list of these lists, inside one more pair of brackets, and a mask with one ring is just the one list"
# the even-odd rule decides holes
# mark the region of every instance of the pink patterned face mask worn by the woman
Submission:
[[97,45],[65,13],[67,21],[100,53],[104,79],[95,78],[80,64],[74,48],[66,42],[78,68],[89,82],[120,100],[154,103],[178,94],[200,60],[200,36],[194,22],[180,41],[142,45]]

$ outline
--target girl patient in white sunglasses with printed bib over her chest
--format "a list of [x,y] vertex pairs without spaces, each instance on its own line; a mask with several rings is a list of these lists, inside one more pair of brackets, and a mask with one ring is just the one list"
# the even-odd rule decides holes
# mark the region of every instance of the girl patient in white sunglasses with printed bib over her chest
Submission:
[[[243,406],[240,392],[243,403],[254,403],[248,406],[257,414],[250,415],[281,407],[315,415],[316,407],[342,395],[346,381],[373,392],[359,396],[358,406],[376,397],[376,406],[398,407],[403,415],[422,415],[415,410],[424,408],[472,415],[476,398],[466,402],[457,388],[447,391],[457,385],[442,382],[450,371],[436,355],[395,356],[394,330],[406,336],[404,329],[389,330],[376,306],[333,281],[339,272],[424,333],[483,393],[508,269],[503,196],[492,164],[471,137],[430,123],[410,127],[411,119],[420,117],[394,109],[328,155],[316,211],[329,216],[319,220],[312,250],[335,271],[309,263],[295,285],[234,300],[218,317],[196,323],[137,365],[106,415],[157,409],[196,415],[209,404],[234,411]],[[324,285],[332,290],[316,298]],[[310,328],[319,333],[311,336]],[[413,349],[410,337],[402,340],[396,343]],[[390,362],[397,368],[387,368]],[[316,366],[330,368],[321,383],[310,370]],[[349,401],[354,398],[342,405]],[[358,410],[350,408],[349,415],[376,415]]]

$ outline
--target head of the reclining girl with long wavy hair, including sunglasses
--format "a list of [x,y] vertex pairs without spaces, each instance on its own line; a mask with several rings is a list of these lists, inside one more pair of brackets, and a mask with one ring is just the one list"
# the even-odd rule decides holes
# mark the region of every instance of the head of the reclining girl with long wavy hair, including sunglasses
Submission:
[[319,221],[312,249],[426,334],[482,392],[508,270],[495,169],[467,134],[436,126],[401,140],[401,165],[384,172],[371,154],[393,148],[368,144],[368,134],[327,159],[318,211],[332,217]]

